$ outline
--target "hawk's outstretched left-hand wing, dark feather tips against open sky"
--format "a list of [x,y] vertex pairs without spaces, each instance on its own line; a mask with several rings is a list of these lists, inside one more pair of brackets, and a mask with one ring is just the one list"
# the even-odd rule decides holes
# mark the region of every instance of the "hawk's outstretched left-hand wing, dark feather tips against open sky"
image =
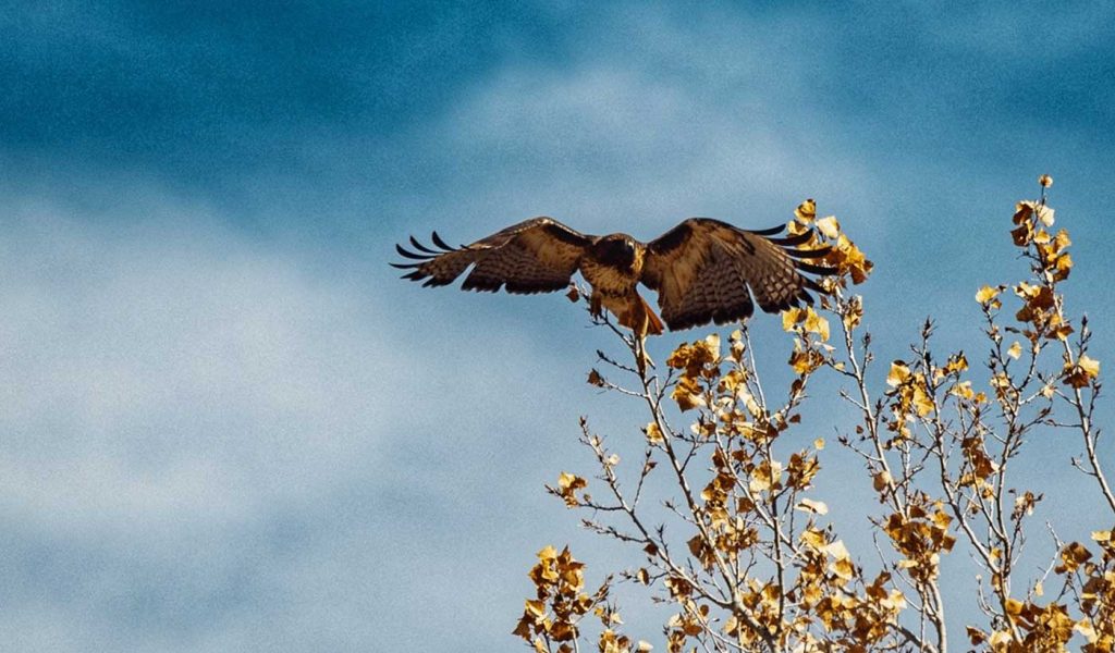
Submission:
[[423,285],[448,285],[475,264],[462,290],[496,292],[506,287],[507,292],[531,294],[566,287],[593,236],[550,217],[535,217],[457,248],[447,245],[437,232],[433,240],[440,252],[414,236],[410,244],[416,252],[395,246],[401,256],[414,261],[391,263],[410,270],[403,279],[425,280]]

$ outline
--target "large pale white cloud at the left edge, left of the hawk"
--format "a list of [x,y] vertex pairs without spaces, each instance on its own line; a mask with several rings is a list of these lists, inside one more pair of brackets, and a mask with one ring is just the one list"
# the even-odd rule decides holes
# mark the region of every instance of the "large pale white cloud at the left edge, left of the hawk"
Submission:
[[382,390],[404,357],[367,292],[205,207],[140,204],[6,198],[3,594],[55,615],[4,611],[21,650],[198,627],[237,574],[266,574],[277,514],[375,479],[394,436]]

